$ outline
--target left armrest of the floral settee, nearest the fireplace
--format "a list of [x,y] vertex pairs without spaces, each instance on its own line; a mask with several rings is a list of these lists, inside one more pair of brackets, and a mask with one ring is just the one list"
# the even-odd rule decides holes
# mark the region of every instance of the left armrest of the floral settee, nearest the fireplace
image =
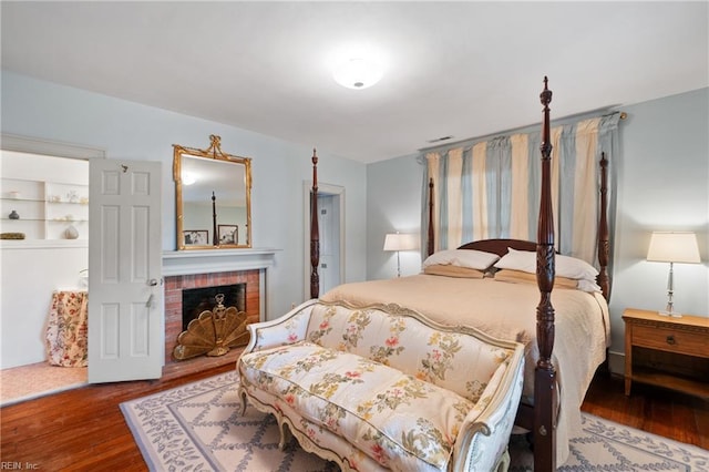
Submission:
[[308,300],[279,318],[248,325],[247,328],[251,337],[244,353],[304,340],[312,306],[317,301],[316,299]]

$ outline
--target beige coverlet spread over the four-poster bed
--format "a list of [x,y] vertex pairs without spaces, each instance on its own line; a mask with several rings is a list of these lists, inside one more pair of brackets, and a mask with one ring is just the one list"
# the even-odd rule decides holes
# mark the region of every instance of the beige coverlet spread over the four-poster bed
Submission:
[[[523,396],[534,392],[536,346],[536,284],[492,278],[415,275],[389,280],[340,285],[320,297],[354,305],[398,304],[448,325],[475,327],[501,339],[525,345]],[[552,360],[559,382],[557,461],[568,456],[568,438],[580,428],[580,404],[610,342],[608,306],[600,294],[554,288],[555,340]]]

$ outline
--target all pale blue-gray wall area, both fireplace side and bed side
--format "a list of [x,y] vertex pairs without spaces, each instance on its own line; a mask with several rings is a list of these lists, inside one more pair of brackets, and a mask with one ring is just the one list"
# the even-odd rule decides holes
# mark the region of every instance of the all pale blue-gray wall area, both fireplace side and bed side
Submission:
[[[302,300],[306,228],[301,195],[304,181],[311,178],[311,145],[7,71],[1,79],[3,133],[100,147],[109,158],[163,163],[166,250],[175,248],[172,144],[206,147],[208,135],[218,134],[225,152],[253,157],[254,246],[279,249],[271,270],[273,312],[285,312]],[[705,261],[676,266],[676,307],[709,314],[708,104],[709,89],[701,89],[623,109],[628,119],[620,124],[620,162],[616,163],[613,351],[623,350],[620,315],[625,307],[657,309],[666,300],[668,268],[645,260],[653,230],[697,232]],[[395,254],[382,247],[387,233],[419,230],[422,168],[415,156],[364,165],[326,150],[318,154],[320,181],[346,188],[346,280],[395,276]],[[418,273],[420,264],[419,253],[401,254],[402,275]]]

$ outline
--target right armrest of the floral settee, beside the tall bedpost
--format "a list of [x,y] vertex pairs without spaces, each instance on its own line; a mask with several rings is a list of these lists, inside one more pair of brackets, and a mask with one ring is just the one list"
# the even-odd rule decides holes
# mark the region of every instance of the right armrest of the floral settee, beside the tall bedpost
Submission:
[[[507,443],[522,397],[524,347],[513,355],[490,380],[479,403],[467,413],[455,441],[454,471],[506,470]],[[482,411],[481,411],[482,409]],[[505,459],[506,458],[506,459]]]

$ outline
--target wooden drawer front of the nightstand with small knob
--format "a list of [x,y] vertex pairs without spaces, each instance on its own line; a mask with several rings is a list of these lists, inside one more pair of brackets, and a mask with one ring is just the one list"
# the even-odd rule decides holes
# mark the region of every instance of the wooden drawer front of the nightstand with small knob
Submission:
[[709,338],[703,332],[692,332],[671,327],[635,325],[633,346],[659,349],[689,356],[709,357]]

